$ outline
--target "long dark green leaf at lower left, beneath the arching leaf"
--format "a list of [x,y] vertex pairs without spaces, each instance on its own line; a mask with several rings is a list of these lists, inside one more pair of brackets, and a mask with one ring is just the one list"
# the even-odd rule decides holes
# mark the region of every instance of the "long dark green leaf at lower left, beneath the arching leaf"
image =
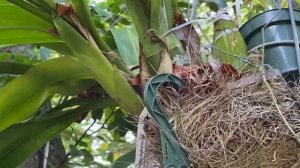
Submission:
[[114,106],[108,98],[97,98],[66,111],[50,112],[39,119],[15,124],[0,132],[0,167],[17,167],[29,155],[65,130],[85,112]]

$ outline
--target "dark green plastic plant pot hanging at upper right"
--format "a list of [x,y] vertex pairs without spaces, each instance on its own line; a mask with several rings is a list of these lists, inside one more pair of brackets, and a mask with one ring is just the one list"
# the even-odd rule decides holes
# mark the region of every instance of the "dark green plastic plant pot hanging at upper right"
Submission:
[[[300,12],[294,10],[297,34],[300,37]],[[262,29],[265,41],[263,44]],[[299,67],[297,64],[293,31],[288,9],[278,11],[270,10],[261,13],[241,28],[240,32],[245,39],[248,50],[265,45],[264,63],[278,68],[287,78],[298,78]],[[299,58],[300,59],[300,58]]]

